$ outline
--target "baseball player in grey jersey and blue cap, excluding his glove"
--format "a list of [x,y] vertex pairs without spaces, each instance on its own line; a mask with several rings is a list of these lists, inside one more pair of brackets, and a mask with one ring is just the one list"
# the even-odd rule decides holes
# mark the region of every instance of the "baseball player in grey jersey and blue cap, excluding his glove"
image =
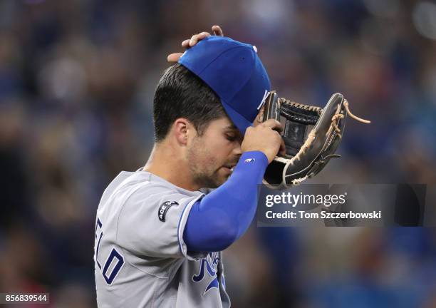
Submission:
[[222,250],[249,227],[257,185],[284,143],[278,121],[251,126],[270,90],[256,48],[196,39],[169,56],[178,63],[157,84],[145,167],[121,172],[101,197],[100,308],[230,307]]

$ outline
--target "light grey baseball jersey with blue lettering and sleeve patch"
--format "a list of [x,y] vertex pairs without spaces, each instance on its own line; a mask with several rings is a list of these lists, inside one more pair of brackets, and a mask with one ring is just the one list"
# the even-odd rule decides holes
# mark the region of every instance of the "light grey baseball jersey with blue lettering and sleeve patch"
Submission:
[[203,193],[144,171],[106,188],[95,220],[98,307],[230,307],[222,252],[187,252],[183,232]]

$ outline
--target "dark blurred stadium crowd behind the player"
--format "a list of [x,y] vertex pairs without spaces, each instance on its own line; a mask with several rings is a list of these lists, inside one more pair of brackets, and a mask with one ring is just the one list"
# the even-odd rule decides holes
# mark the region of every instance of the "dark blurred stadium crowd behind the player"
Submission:
[[[1,0],[0,291],[95,307],[100,195],[144,165],[168,53],[219,24],[281,96],[351,111],[316,183],[436,182],[436,3]],[[232,307],[436,307],[435,230],[259,228],[224,253]],[[30,306],[29,306],[30,307]]]

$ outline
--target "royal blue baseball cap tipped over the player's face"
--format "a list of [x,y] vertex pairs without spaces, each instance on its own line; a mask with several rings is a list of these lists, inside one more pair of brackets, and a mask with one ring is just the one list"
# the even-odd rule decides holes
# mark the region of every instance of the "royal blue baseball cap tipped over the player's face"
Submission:
[[256,47],[208,36],[185,51],[179,63],[217,93],[227,115],[244,135],[271,89]]

